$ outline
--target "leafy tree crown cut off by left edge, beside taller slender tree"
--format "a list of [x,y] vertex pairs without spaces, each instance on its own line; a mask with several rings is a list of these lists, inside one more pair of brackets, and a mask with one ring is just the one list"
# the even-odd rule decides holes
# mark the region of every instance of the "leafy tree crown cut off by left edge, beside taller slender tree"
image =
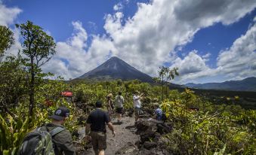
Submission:
[[14,33],[6,26],[0,26],[0,60],[5,50],[14,44]]

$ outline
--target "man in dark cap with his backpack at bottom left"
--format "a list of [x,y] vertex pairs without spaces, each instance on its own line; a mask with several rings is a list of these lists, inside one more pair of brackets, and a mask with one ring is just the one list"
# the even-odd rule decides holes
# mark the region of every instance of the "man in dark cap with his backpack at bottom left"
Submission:
[[52,115],[51,123],[29,132],[20,147],[20,155],[55,154],[76,155],[69,130],[63,127],[69,117],[69,109],[59,107]]

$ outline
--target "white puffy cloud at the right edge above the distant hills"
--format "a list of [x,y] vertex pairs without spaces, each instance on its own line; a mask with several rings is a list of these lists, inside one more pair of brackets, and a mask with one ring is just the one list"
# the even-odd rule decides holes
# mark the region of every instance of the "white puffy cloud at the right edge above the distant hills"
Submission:
[[254,23],[245,35],[237,38],[233,45],[221,51],[217,57],[217,69],[230,77],[243,77],[256,75],[256,24]]

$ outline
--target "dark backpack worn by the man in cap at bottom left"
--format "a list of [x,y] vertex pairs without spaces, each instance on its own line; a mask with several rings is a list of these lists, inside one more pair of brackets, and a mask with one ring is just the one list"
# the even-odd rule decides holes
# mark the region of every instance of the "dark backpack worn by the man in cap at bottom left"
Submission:
[[57,127],[50,132],[46,128],[39,127],[29,132],[20,146],[19,155],[54,155],[54,143],[51,138],[57,133],[65,130],[63,127]]

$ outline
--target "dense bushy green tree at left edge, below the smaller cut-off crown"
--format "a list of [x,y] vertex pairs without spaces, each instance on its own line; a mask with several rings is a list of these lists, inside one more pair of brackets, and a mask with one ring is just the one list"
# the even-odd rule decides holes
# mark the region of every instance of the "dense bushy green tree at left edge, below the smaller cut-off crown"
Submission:
[[7,56],[0,62],[0,114],[7,112],[14,117],[11,108],[17,107],[26,98],[26,71],[23,70],[21,56]]

